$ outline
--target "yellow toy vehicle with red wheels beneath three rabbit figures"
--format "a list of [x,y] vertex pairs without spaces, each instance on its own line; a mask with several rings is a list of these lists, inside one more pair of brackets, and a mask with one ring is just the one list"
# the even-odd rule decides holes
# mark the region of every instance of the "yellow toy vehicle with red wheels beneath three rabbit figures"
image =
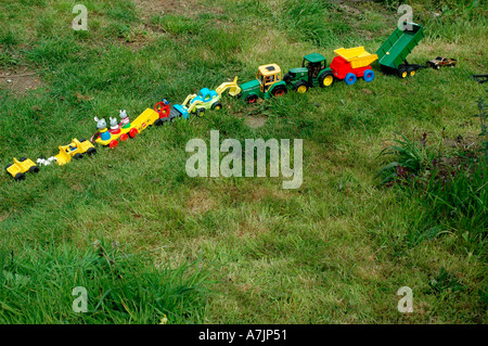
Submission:
[[118,145],[118,141],[126,141],[129,137],[134,138],[138,133],[145,130],[150,125],[153,125],[159,119],[159,113],[154,110],[147,108],[140,116],[138,116],[130,126],[119,128],[117,130],[107,130],[106,128],[101,130],[101,136],[97,138],[95,142],[101,145],[108,145],[115,148]]

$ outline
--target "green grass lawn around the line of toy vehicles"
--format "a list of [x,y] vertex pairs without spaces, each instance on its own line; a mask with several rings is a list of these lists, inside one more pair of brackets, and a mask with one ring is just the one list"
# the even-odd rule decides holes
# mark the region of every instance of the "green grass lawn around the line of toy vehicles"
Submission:
[[[88,8],[88,31],[70,27],[76,3]],[[426,37],[409,62],[442,55],[458,59],[455,68],[400,79],[374,64],[371,84],[253,105],[226,94],[222,111],[150,127],[115,150],[98,146],[22,182],[0,175],[0,322],[486,323],[487,201],[468,215],[427,214],[421,192],[380,185],[376,175],[395,133],[419,141],[425,132],[445,155],[460,137],[480,148],[473,115],[486,87],[468,76],[487,73],[488,8],[410,4]],[[397,7],[3,0],[2,165],[90,138],[94,116],[134,118],[163,98],[181,103],[234,76],[251,80],[258,65],[287,72],[312,52],[328,62],[341,47],[375,52]],[[211,129],[221,140],[304,139],[301,187],[189,177],[185,143],[208,142]],[[486,184],[473,189],[486,197]],[[72,310],[75,286],[88,290],[86,313]],[[413,291],[412,313],[397,310],[401,286]]]

